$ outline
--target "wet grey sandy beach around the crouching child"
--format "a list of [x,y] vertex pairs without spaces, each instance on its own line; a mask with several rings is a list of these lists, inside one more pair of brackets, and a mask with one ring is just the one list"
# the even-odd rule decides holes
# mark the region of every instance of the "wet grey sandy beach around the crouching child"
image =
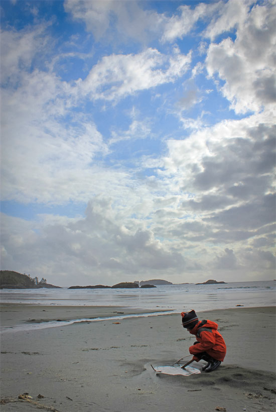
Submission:
[[[3,304],[1,326],[122,312],[141,313],[126,307]],[[151,367],[189,355],[195,339],[182,328],[179,314],[4,332],[1,410],[274,411],[275,308],[237,307],[198,315],[218,323],[227,355],[216,371],[187,377],[157,375]],[[191,366],[201,369],[204,364]],[[32,396],[31,402],[18,398],[23,393]]]

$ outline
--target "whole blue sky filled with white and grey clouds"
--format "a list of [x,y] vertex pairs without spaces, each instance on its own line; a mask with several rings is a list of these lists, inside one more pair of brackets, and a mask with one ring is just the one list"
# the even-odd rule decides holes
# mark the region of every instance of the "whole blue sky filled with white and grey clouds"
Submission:
[[1,268],[275,278],[275,1],[1,7]]

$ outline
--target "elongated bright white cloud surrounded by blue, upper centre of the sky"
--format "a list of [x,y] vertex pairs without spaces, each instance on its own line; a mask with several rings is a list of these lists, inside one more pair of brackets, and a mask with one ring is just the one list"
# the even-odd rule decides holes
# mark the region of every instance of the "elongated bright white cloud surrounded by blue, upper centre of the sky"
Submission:
[[156,49],[138,54],[110,55],[92,67],[85,80],[77,81],[81,94],[93,99],[117,100],[136,91],[174,82],[189,68],[191,53],[184,55],[178,49],[171,56]]

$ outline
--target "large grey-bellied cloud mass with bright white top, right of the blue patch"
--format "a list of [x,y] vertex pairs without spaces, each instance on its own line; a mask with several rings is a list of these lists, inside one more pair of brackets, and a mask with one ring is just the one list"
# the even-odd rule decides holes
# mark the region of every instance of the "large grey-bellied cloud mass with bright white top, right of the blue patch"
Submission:
[[[184,140],[168,141],[163,182],[183,194],[174,199],[174,214],[168,208],[158,214],[155,224],[159,236],[176,239],[177,247],[181,244],[189,254],[193,248],[203,266],[206,252],[200,243],[214,245],[208,251],[213,268],[219,264],[215,255],[224,256],[216,251],[222,244],[229,245],[225,247],[229,251],[236,250],[235,267],[243,268],[244,273],[248,266],[238,252],[242,244],[252,245],[258,254],[259,248],[268,247],[273,256],[274,133],[271,118],[262,114],[243,121],[224,121]],[[262,234],[265,243],[256,240]],[[261,256],[263,267],[269,267],[271,256]],[[227,252],[226,257],[233,256]]]

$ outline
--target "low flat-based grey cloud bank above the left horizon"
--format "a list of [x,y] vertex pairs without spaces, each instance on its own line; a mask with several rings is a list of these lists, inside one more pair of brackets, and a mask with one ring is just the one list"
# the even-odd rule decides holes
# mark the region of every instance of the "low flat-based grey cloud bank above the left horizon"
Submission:
[[[81,282],[92,278],[110,284],[115,283],[114,278],[133,280],[134,275],[154,271],[165,274],[182,270],[185,265],[181,253],[167,249],[143,223],[135,222],[134,228],[127,228],[107,198],[89,201],[84,219],[65,222],[57,217],[49,222],[45,217],[36,225],[40,235],[33,224],[22,219],[3,215],[1,221],[4,266],[15,270],[28,267],[30,271],[39,268],[41,276],[54,282],[59,262],[56,275],[64,277],[64,285],[75,282],[76,273],[82,274],[78,279]],[[48,256],[52,257],[50,261]]]

